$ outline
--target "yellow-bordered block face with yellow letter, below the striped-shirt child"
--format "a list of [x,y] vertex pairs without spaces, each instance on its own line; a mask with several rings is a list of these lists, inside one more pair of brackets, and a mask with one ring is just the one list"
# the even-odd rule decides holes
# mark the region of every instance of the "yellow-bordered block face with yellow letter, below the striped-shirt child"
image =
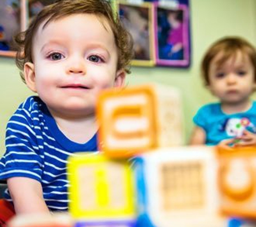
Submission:
[[128,161],[81,153],[68,160],[68,176],[74,218],[134,217],[134,180]]

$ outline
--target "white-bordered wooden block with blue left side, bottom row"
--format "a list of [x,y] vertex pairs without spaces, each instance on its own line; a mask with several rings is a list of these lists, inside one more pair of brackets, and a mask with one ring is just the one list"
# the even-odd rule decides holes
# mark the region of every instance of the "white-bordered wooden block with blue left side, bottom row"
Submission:
[[189,226],[186,224],[193,222],[206,226],[209,220],[220,223],[215,226],[225,226],[218,216],[214,148],[158,148],[135,158],[135,173],[137,188],[143,190],[138,192],[138,206],[156,226]]

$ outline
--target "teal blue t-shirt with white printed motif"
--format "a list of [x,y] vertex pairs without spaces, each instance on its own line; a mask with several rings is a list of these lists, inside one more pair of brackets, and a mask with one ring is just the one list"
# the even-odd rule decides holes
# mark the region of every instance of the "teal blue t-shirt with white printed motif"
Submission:
[[223,139],[240,137],[246,129],[256,133],[256,102],[246,112],[226,114],[220,103],[201,107],[193,122],[206,133],[206,145],[217,145]]

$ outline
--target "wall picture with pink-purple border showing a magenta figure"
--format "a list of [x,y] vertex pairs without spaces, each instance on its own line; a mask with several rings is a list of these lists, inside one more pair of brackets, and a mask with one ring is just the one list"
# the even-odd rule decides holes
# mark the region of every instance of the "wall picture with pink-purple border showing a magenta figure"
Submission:
[[190,29],[188,5],[154,3],[156,65],[189,67]]

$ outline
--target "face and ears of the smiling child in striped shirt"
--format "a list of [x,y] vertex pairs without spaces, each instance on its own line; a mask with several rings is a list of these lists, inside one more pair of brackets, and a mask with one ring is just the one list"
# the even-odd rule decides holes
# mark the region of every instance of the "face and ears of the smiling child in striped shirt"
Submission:
[[[103,24],[102,24],[103,21]],[[117,71],[117,47],[106,19],[76,14],[39,26],[33,39],[33,63],[26,63],[27,86],[55,115],[94,113],[101,90],[123,86]]]

